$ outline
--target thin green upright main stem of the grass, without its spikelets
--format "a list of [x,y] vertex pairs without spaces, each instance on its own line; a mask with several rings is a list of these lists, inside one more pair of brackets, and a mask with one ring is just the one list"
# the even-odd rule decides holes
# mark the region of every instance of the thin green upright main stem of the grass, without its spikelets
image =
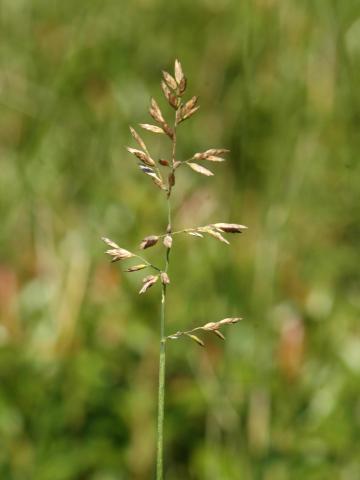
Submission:
[[[174,135],[172,139],[172,155],[171,155],[171,175],[174,173],[174,163],[176,155],[176,116],[174,123]],[[171,185],[169,183],[167,195],[168,206],[168,226],[167,234],[171,235]],[[165,268],[168,273],[170,263],[170,248],[165,253]],[[157,459],[156,459],[156,480],[164,478],[164,404],[165,404],[165,366],[166,366],[166,336],[165,336],[165,306],[166,306],[166,284],[162,284],[161,292],[161,309],[160,309],[160,354],[159,354],[159,393],[158,393],[158,418],[157,418]]]

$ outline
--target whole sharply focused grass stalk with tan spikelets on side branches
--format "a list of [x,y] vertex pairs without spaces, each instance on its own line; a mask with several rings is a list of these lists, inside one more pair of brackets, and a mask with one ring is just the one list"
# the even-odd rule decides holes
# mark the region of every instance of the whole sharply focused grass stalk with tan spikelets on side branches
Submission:
[[186,331],[178,331],[167,335],[165,329],[166,320],[166,292],[170,284],[169,266],[170,253],[175,235],[185,234],[203,238],[211,236],[215,239],[229,244],[224,234],[242,233],[246,230],[245,225],[237,223],[217,222],[209,225],[190,227],[182,230],[173,230],[171,195],[176,184],[176,175],[180,168],[190,168],[194,172],[211,177],[214,175],[212,170],[203,166],[203,163],[221,163],[225,161],[224,156],[229,153],[225,148],[209,148],[205,151],[197,152],[191,158],[181,160],[177,154],[178,127],[199,110],[198,97],[192,96],[185,100],[184,96],[187,90],[187,79],[184,75],[181,63],[175,60],[174,75],[167,71],[162,72],[161,80],[162,92],[172,110],[174,111],[173,123],[165,120],[158,103],[153,98],[150,102],[149,113],[155,124],[141,123],[140,127],[157,135],[163,135],[171,143],[171,154],[168,159],[156,161],[150,154],[147,145],[137,131],[130,127],[130,132],[137,148],[127,147],[129,153],[134,155],[139,161],[139,169],[152,180],[155,187],[163,193],[168,206],[168,219],[166,231],[162,234],[146,236],[140,243],[140,250],[146,250],[156,244],[162,243],[165,249],[163,266],[155,265],[138,253],[126,250],[120,247],[113,240],[103,237],[103,241],[108,245],[106,251],[111,256],[112,262],[118,262],[127,259],[137,260],[135,263],[125,269],[125,272],[131,273],[140,270],[151,271],[142,280],[139,294],[146,293],[150,287],[156,283],[161,283],[161,307],[160,307],[160,354],[159,354],[159,392],[158,392],[158,417],[157,417],[157,459],[156,459],[156,480],[164,478],[164,402],[165,402],[165,366],[166,366],[166,344],[169,340],[177,340],[181,337],[188,337],[201,347],[205,346],[204,341],[198,336],[199,332],[212,332],[222,340],[225,340],[221,328],[226,325],[237,323],[241,317],[227,317],[220,321],[207,322],[201,326],[195,326]]

